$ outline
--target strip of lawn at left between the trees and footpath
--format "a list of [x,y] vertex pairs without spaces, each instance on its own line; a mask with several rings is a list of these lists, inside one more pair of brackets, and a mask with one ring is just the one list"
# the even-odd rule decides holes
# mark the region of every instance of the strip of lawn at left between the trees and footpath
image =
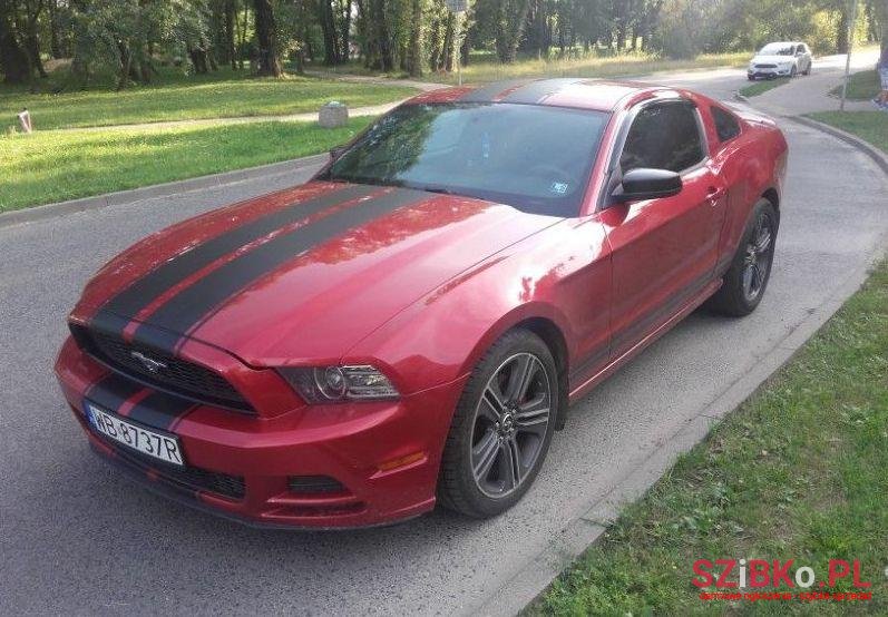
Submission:
[[[56,84],[51,81],[46,88],[52,89]],[[106,88],[31,95],[21,88],[0,88],[0,129],[13,125],[16,114],[22,107],[31,112],[35,128],[46,130],[197,118],[281,116],[315,111],[330,100],[363,107],[414,94],[413,88],[398,85],[347,84],[295,76],[248,78],[231,69],[186,77],[164,69],[157,84],[134,86],[119,92]]]

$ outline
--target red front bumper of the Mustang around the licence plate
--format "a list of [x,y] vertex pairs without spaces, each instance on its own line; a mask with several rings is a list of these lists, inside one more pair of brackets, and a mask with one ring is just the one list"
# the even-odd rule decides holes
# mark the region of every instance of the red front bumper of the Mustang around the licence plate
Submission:
[[[435,507],[441,451],[465,380],[398,401],[300,407],[274,418],[194,405],[164,427],[186,470],[135,454],[89,424],[84,402],[140,419],[164,394],[109,373],[69,339],[56,372],[92,449],[156,492],[253,526],[386,525]],[[168,405],[167,405],[168,409]],[[157,411],[157,414],[154,414]],[[314,480],[329,480],[323,490]],[[310,481],[305,482],[304,479]],[[322,482],[323,483],[323,482]]]

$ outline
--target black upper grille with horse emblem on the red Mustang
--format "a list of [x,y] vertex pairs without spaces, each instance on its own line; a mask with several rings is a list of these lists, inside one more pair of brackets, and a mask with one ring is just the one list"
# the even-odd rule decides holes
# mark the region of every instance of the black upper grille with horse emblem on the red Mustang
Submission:
[[[253,412],[231,383],[205,366],[76,324],[71,324],[71,332],[84,351],[125,376],[196,402]],[[156,371],[150,371],[137,354],[158,362]]]

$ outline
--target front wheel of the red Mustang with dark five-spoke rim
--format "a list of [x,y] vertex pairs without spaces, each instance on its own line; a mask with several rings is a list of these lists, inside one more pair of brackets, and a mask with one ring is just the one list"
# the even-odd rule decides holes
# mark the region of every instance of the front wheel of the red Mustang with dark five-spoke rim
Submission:
[[[524,364],[518,364],[525,360],[527,366],[523,370]],[[516,375],[520,372],[529,376],[514,376],[513,370]],[[513,379],[528,382],[526,393],[534,399],[523,404],[530,411],[521,411],[520,404],[507,400]],[[494,394],[490,388],[496,390]],[[547,400],[540,394],[544,389]],[[555,360],[536,334],[513,330],[499,339],[472,371],[457,404],[441,459],[438,502],[472,518],[495,517],[517,503],[534,483],[548,452],[558,396]],[[543,427],[540,411],[531,408],[546,402],[548,411]],[[496,413],[499,420],[494,424],[490,411],[497,403],[505,403],[500,407],[504,413]],[[507,415],[513,420],[507,420]],[[507,422],[513,437],[506,430]],[[479,479],[479,474],[484,477]],[[500,483],[501,492],[497,493]]]

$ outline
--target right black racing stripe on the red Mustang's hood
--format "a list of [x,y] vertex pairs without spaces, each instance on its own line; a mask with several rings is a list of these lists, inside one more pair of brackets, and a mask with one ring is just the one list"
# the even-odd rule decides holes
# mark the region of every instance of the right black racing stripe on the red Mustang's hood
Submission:
[[208,317],[226,300],[261,276],[315,246],[365,225],[403,206],[428,199],[420,190],[396,188],[352,207],[334,212],[312,224],[272,238],[219,266],[173,296],[136,330],[135,339],[175,353],[182,335]]

